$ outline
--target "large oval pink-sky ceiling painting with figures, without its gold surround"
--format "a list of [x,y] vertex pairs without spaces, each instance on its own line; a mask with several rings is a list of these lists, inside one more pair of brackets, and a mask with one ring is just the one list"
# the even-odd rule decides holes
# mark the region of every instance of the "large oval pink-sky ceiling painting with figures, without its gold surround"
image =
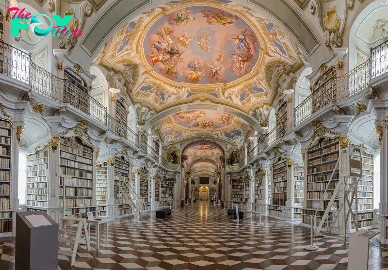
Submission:
[[144,52],[166,79],[193,84],[228,83],[252,71],[259,39],[241,17],[192,6],[159,18],[146,33]]

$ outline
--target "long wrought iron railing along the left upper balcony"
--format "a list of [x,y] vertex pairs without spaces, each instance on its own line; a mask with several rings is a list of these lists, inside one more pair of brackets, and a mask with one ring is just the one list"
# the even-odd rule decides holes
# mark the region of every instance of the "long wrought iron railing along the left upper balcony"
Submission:
[[106,108],[67,79],[61,79],[32,63],[30,54],[0,42],[0,74],[31,85],[33,92],[51,100],[67,103],[106,126],[109,131],[139,147],[139,137],[126,123],[118,122]]

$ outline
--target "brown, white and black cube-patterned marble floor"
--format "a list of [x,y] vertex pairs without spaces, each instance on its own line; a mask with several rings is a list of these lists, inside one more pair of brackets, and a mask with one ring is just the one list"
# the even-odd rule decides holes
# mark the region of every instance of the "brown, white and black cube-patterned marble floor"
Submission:
[[[319,249],[308,252],[309,231],[289,222],[265,219],[245,213],[232,221],[226,211],[206,204],[174,208],[172,216],[155,219],[155,212],[111,221],[108,244],[88,253],[78,250],[76,264],[59,255],[58,270],[344,270],[348,246],[336,238],[316,238]],[[101,242],[105,242],[104,232]],[[92,231],[92,240],[96,234]],[[61,249],[68,249],[62,246]],[[0,239],[0,269],[14,270],[14,239]],[[371,247],[369,270],[388,270],[388,249]]]

